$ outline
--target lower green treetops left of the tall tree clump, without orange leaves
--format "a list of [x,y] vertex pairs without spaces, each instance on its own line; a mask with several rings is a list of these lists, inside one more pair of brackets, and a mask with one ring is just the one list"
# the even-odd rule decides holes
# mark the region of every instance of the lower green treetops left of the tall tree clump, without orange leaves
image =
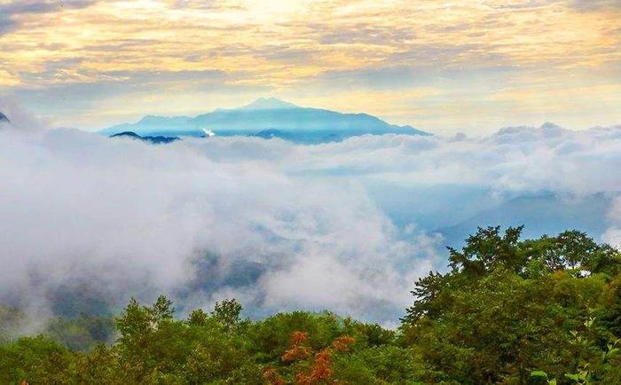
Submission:
[[216,303],[209,315],[194,310],[178,320],[163,296],[152,306],[132,299],[116,319],[113,345],[84,353],[43,336],[0,345],[0,357],[7,358],[0,364],[0,383],[264,384],[268,368],[293,383],[297,373],[313,369],[312,356],[296,363],[282,358],[294,332],[308,333],[305,344],[315,352],[336,349],[339,337],[353,336],[347,351],[334,355],[339,381],[416,383],[417,371],[424,370],[410,348],[397,346],[394,331],[378,325],[327,312],[295,311],[255,322],[240,313],[240,304],[229,300]]

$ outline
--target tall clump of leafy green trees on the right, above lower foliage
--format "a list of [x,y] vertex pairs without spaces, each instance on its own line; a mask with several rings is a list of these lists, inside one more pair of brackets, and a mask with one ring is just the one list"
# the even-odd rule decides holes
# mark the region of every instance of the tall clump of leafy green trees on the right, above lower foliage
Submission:
[[600,358],[621,336],[617,250],[580,232],[520,240],[521,232],[479,229],[450,249],[452,270],[416,283],[405,344],[460,383],[527,383],[541,373],[610,383],[612,366]]

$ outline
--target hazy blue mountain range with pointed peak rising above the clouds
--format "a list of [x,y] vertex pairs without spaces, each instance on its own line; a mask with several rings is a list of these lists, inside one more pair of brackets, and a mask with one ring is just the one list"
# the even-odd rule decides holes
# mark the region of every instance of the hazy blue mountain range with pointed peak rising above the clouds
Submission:
[[301,143],[333,142],[365,134],[430,135],[411,126],[389,124],[369,114],[342,114],[295,106],[277,98],[259,98],[248,106],[216,109],[195,117],[147,115],[139,122],[119,124],[100,133],[114,135],[126,131],[141,136],[244,135]]

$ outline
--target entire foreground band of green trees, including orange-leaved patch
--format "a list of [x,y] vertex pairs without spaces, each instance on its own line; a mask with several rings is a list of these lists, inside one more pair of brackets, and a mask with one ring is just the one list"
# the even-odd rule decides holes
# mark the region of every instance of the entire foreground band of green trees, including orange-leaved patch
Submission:
[[250,320],[235,300],[180,319],[161,295],[15,337],[25,316],[0,307],[0,384],[621,383],[621,255],[581,232],[521,233],[449,249],[397,330],[338,309]]

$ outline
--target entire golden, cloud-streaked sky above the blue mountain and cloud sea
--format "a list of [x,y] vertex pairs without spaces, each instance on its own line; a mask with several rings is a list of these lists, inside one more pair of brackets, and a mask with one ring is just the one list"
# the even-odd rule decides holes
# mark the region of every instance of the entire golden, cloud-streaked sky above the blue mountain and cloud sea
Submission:
[[259,97],[449,134],[621,122],[619,0],[0,0],[0,98],[104,128]]

